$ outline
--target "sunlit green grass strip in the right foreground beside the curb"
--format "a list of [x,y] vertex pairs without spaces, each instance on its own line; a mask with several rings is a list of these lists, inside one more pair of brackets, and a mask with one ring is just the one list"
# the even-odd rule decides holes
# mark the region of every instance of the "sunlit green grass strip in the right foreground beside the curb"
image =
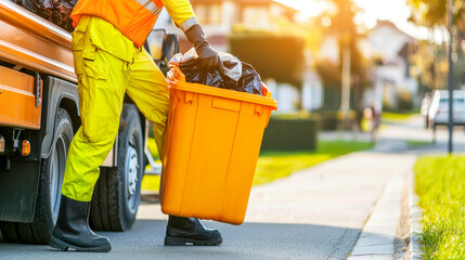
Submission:
[[424,258],[465,259],[465,156],[422,157],[415,181]]

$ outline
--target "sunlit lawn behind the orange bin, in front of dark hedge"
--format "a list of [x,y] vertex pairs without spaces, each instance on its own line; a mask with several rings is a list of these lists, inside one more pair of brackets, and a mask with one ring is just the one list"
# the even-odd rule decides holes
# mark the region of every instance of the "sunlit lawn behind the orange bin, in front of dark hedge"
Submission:
[[[151,151],[154,151],[155,147],[153,146],[154,142],[150,141],[148,148]],[[371,147],[373,147],[371,142],[320,141],[318,150],[314,152],[262,152],[257,161],[254,185],[272,182],[337,156]],[[142,181],[142,190],[144,191],[158,191],[158,185],[159,177],[156,176],[146,176]]]

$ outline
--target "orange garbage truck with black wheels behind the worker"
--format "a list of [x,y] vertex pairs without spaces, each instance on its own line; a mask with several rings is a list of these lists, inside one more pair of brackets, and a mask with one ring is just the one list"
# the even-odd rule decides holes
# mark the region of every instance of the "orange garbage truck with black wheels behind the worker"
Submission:
[[[48,244],[66,155],[79,129],[69,14],[76,0],[0,0],[0,230],[3,240]],[[162,70],[176,35],[154,29],[145,48]],[[118,136],[101,167],[90,223],[131,227],[140,203],[148,122],[126,96]]]

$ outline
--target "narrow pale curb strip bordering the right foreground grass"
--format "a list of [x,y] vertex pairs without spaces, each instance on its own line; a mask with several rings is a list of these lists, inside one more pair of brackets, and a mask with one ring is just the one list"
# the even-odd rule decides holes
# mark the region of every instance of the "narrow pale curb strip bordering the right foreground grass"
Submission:
[[422,209],[418,207],[418,196],[415,194],[415,182],[413,171],[409,174],[409,203],[410,203],[410,259],[423,259],[419,246],[419,234],[422,233]]

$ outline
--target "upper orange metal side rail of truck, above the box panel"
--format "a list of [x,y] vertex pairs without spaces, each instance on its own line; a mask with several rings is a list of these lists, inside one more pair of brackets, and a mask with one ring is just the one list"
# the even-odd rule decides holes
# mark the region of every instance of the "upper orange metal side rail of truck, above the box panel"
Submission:
[[0,17],[2,60],[77,82],[69,32],[7,0]]

